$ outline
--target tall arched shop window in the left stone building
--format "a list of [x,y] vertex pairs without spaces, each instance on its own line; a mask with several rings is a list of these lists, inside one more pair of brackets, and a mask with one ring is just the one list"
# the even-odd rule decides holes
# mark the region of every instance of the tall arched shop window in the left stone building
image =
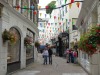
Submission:
[[13,72],[20,69],[20,52],[21,52],[21,35],[19,31],[11,27],[10,32],[16,35],[17,41],[14,44],[8,42],[8,54],[7,54],[7,72]]

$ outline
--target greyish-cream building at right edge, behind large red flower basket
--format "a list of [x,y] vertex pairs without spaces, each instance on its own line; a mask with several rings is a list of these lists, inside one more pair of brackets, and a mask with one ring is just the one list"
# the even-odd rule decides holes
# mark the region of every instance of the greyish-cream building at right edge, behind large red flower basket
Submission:
[[[76,25],[80,34],[87,32],[92,25],[100,24],[100,1],[84,0],[80,15]],[[98,51],[100,48],[98,48]],[[89,75],[100,75],[100,53],[96,52],[92,56],[79,51],[79,63],[89,73]]]

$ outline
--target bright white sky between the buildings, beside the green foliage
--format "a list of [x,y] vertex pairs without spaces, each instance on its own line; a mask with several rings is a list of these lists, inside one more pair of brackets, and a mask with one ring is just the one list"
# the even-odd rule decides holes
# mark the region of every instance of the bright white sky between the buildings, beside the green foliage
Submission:
[[[45,8],[46,5],[48,5],[51,1],[56,1],[56,0],[39,0],[39,6],[41,6],[41,8]],[[39,13],[42,13],[41,16],[39,16],[39,18],[45,18],[45,10],[41,10],[39,11]],[[47,17],[49,17],[49,15],[47,15]]]

